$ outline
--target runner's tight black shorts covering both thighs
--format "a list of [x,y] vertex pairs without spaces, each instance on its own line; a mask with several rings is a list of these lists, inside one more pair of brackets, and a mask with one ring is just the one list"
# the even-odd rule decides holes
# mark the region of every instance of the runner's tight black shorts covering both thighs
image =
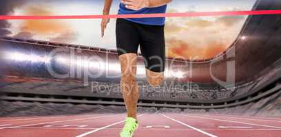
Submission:
[[165,71],[164,25],[143,25],[118,18],[116,45],[118,55],[138,53],[140,46],[145,67],[153,72]]

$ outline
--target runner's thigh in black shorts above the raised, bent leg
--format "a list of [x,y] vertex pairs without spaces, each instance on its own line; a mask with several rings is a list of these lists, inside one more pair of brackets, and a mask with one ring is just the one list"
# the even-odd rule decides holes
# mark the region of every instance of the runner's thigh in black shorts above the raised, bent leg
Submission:
[[165,71],[165,35],[164,26],[143,25],[141,33],[141,53],[145,67],[152,72]]

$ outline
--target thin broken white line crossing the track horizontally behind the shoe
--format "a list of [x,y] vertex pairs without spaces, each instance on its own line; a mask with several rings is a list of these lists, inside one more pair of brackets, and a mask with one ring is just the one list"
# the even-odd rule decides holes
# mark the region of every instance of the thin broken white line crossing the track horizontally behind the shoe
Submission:
[[[16,127],[15,129],[98,129],[98,128],[75,128],[75,127],[63,127],[63,128],[56,128],[56,127]],[[122,128],[107,128],[106,130],[121,130]],[[182,129],[182,128],[175,128],[175,129],[163,129],[163,128],[138,128],[138,130],[194,130],[194,129]],[[281,129],[214,129],[214,128],[203,128],[201,130],[266,130],[266,131],[280,131]]]

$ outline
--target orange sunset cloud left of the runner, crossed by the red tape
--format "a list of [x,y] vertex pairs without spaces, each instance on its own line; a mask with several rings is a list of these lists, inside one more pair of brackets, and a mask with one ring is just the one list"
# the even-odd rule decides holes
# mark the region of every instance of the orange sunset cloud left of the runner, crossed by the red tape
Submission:
[[[54,15],[49,9],[40,6],[28,6],[25,15]],[[20,25],[20,32],[14,36],[32,38],[32,36],[47,38],[47,40],[69,42],[76,38],[76,32],[71,25],[59,20],[25,20]]]

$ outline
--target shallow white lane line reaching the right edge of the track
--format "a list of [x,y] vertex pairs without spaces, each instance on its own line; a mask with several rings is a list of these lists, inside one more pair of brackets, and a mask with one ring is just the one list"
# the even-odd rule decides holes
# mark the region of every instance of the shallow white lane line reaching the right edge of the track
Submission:
[[[181,116],[189,116],[189,115],[184,115],[184,114],[180,114],[180,115]],[[200,119],[209,119],[209,120],[214,120],[214,121],[224,121],[224,122],[229,122],[229,123],[240,123],[240,124],[244,124],[244,125],[256,125],[256,126],[261,126],[261,127],[270,127],[270,128],[281,129],[281,127],[276,127],[276,126],[271,126],[271,125],[262,125],[262,124],[247,123],[247,122],[241,122],[241,121],[229,121],[229,120],[224,120],[224,119],[214,119],[214,118],[203,117],[203,116],[189,116],[189,117],[200,118]]]

